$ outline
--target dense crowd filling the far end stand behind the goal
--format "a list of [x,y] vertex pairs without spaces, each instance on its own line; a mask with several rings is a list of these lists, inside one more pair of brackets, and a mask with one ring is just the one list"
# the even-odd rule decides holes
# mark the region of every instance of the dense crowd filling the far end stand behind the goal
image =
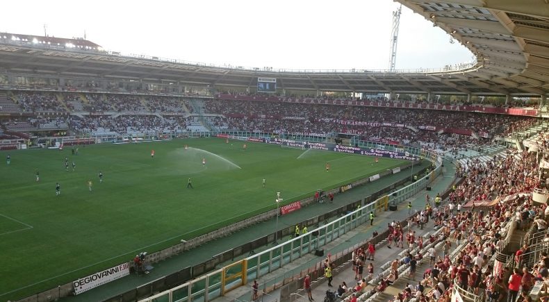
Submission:
[[[296,104],[274,101],[205,101],[206,113],[218,115],[218,130],[327,135],[348,133],[362,140],[417,142],[432,149],[450,150],[466,143],[484,144],[488,137],[531,126],[536,119],[475,112]],[[367,124],[365,124],[367,123]],[[368,124],[377,123],[377,124]],[[425,129],[429,126],[429,130]],[[479,138],[438,131],[473,131]]]

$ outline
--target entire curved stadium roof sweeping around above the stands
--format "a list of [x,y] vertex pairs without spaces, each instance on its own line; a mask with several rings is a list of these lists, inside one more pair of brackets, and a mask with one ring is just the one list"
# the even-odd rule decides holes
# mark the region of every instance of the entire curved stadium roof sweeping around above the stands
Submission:
[[[277,78],[286,90],[334,92],[546,95],[548,0],[397,0],[468,47],[476,62],[441,69],[288,70],[214,66],[97,47],[33,43],[0,35],[2,72],[90,80],[254,87]],[[85,40],[84,40],[85,41]],[[428,41],[421,41],[428,43]],[[91,42],[90,42],[91,43]],[[452,62],[451,58],[448,59]]]

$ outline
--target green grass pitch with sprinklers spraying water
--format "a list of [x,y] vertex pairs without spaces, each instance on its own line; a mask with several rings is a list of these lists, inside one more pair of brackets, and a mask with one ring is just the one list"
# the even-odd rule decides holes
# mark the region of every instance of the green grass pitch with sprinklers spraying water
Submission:
[[[81,146],[78,156],[69,147],[10,151],[11,164],[0,165],[0,300],[48,290],[265,212],[275,207],[276,192],[290,203],[404,162],[380,158],[372,165],[368,156],[242,145],[212,138]],[[65,157],[76,171],[65,171]]]

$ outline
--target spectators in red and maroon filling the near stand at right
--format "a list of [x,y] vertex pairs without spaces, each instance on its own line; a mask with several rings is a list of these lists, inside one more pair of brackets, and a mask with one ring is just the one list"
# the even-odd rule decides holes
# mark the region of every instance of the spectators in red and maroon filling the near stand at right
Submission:
[[[541,292],[548,293],[549,258],[547,253],[541,253],[540,259],[530,259],[534,246],[527,240],[514,255],[513,267],[504,265],[494,270],[493,265],[495,253],[503,252],[507,246],[512,220],[519,230],[532,224],[537,231],[547,230],[548,205],[534,203],[530,194],[517,194],[532,192],[538,183],[537,169],[536,154],[527,151],[507,150],[484,163],[470,160],[466,167],[458,169],[457,174],[464,181],[452,189],[448,204],[426,196],[425,208],[409,219],[410,224],[422,230],[427,224],[432,226],[429,231],[434,235],[429,235],[424,243],[413,228],[405,230],[395,221],[388,224],[387,245],[383,248],[407,249],[404,257],[395,258],[388,265],[390,274],[379,278],[379,283],[368,292],[368,280],[377,275],[373,269],[366,269],[373,253],[369,248],[357,249],[352,255],[357,286],[348,287],[349,280],[345,280],[347,283],[341,283],[337,295],[345,301],[357,301],[362,294],[384,292],[402,277],[402,266],[407,267],[409,279],[391,301],[449,302],[456,285],[461,291],[485,296],[484,301],[532,301],[529,295],[536,283],[543,285]],[[502,198],[507,196],[513,197]],[[469,206],[470,201],[486,199],[498,202],[489,208],[475,208],[474,203]],[[549,242],[548,235],[546,239]],[[433,243],[436,245],[427,246]],[[416,272],[422,261],[429,262],[427,269]],[[375,266],[372,262],[368,267]]]

